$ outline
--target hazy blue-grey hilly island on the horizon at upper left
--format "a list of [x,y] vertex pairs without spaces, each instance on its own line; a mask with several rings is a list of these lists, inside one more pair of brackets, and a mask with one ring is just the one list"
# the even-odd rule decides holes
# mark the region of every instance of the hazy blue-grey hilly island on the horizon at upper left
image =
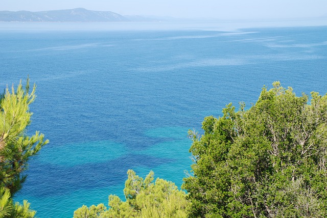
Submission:
[[161,21],[143,16],[123,16],[111,11],[90,11],[84,8],[55,11],[0,11],[0,21],[15,22],[126,22]]

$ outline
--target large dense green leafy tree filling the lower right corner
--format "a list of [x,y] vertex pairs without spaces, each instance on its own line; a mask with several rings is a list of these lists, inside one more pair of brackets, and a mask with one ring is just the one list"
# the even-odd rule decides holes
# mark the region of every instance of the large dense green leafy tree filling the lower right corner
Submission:
[[232,104],[190,131],[191,217],[327,217],[327,95],[263,88],[248,110]]

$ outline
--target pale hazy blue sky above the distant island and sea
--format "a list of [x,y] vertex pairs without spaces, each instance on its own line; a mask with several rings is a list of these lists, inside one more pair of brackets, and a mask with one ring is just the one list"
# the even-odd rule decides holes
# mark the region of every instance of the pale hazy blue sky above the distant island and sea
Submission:
[[122,15],[263,19],[327,16],[327,0],[1,0],[0,11],[86,8]]

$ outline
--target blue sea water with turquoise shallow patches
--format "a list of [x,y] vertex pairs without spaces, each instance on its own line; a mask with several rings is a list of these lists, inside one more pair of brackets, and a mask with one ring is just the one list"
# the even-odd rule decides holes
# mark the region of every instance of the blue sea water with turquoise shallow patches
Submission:
[[249,107],[273,81],[297,95],[327,92],[327,26],[1,25],[0,87],[29,75],[37,99],[28,133],[50,140],[15,196],[39,217],[72,217],[83,204],[107,204],[109,194],[124,199],[128,169],[153,170],[180,187],[192,163],[188,129],[201,132],[203,118],[220,116],[229,102]]

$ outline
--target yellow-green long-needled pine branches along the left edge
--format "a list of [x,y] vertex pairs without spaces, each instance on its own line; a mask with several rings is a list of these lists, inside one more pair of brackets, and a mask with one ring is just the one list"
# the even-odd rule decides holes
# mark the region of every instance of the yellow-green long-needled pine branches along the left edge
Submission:
[[27,201],[19,205],[11,199],[26,179],[21,173],[27,169],[27,161],[49,142],[39,132],[26,135],[32,116],[29,105],[35,96],[35,85],[30,92],[29,79],[25,89],[20,82],[16,91],[12,87],[10,92],[7,87],[0,96],[0,217],[35,215]]

